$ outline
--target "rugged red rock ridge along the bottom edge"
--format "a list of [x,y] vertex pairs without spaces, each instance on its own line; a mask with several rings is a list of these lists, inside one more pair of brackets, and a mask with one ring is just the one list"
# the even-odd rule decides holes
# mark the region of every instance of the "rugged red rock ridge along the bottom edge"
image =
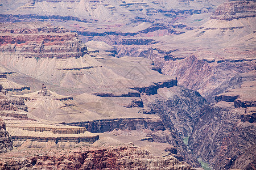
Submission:
[[[62,154],[61,154],[62,155]],[[1,169],[183,169],[192,170],[190,165],[179,162],[172,156],[156,157],[138,147],[100,148],[73,151],[55,156],[30,156],[28,158],[1,160]]]

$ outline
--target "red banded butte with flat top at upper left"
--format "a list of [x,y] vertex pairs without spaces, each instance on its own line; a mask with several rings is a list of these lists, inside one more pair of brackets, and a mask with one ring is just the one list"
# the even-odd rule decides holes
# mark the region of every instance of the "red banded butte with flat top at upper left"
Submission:
[[0,52],[24,57],[79,58],[86,46],[74,32],[43,23],[1,24]]

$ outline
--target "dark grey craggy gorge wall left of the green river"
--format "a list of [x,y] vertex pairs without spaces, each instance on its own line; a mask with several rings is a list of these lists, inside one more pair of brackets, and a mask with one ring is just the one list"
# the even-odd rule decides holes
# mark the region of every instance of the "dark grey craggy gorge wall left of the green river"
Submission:
[[158,114],[164,125],[176,128],[182,137],[192,133],[201,107],[207,104],[196,91],[181,87],[162,88],[154,96],[142,96],[149,114]]

